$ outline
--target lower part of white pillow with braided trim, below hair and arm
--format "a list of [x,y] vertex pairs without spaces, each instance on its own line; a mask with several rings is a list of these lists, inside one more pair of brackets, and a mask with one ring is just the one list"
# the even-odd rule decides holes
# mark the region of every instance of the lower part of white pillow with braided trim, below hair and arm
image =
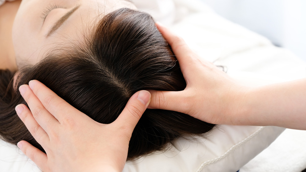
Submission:
[[[167,152],[127,162],[124,172],[237,171],[270,145],[284,128],[274,126],[215,127],[207,138],[178,139]],[[81,155],[80,155],[81,156]],[[5,172],[40,172],[15,146],[0,141],[0,167]]]

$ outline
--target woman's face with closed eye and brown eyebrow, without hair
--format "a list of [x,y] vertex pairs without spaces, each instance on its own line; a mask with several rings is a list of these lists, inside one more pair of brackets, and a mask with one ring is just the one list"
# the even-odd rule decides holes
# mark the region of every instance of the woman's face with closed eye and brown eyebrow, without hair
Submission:
[[18,68],[34,65],[54,46],[83,42],[107,13],[136,7],[126,0],[22,0],[13,25]]

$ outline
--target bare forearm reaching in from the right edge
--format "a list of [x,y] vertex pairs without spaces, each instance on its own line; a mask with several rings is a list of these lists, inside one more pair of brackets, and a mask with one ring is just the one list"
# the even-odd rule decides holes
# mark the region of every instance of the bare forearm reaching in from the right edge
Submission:
[[236,125],[306,130],[306,79],[249,89],[233,116]]

